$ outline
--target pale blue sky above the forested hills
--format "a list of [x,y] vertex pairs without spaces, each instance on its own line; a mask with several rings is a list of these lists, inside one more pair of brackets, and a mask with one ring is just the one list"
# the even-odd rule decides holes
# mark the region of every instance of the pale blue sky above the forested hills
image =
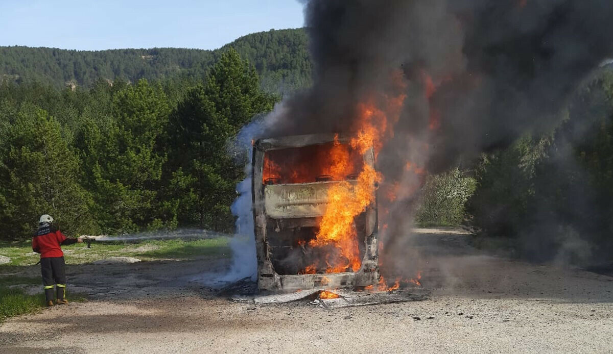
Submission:
[[0,45],[77,50],[215,49],[303,26],[296,0],[0,0]]

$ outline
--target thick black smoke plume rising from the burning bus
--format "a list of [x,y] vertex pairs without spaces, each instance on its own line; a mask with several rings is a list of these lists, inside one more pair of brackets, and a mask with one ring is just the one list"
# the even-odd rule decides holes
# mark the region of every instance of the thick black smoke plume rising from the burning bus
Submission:
[[[304,2],[314,82],[261,136],[353,130],[360,102],[406,95],[378,155],[386,183],[402,186],[389,220],[406,219],[419,185],[408,162],[437,173],[549,131],[613,56],[611,0]],[[388,233],[405,226],[390,222]]]

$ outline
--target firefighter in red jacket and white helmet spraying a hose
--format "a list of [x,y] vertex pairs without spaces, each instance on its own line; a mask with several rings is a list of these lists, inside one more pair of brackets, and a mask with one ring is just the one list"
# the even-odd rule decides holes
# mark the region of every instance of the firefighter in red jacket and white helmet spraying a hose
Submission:
[[[39,227],[32,238],[32,250],[40,254],[40,271],[45,286],[45,302],[53,306],[67,304],[66,299],[66,271],[64,269],[64,252],[60,247],[63,244],[82,243],[82,238],[67,238],[53,225],[53,217],[45,214],[39,219]],[[56,296],[53,288],[56,287]]]

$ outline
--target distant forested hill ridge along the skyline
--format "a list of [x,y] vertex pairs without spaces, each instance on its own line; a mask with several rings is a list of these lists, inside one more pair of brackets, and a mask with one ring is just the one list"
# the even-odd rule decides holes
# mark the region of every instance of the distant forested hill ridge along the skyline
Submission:
[[[196,43],[194,43],[196,44]],[[287,91],[310,83],[311,62],[303,29],[258,32],[217,50],[184,48],[101,51],[56,48],[0,47],[0,76],[18,83],[39,81],[91,87],[99,78],[156,80],[186,75],[204,78],[221,53],[234,47],[256,66],[266,91]]]

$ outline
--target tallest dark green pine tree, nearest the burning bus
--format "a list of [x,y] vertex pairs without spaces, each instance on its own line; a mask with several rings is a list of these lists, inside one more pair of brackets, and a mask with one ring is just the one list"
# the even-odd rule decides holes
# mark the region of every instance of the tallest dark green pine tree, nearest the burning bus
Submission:
[[230,205],[243,166],[227,143],[253,116],[272,109],[274,99],[259,88],[253,66],[230,49],[211,69],[206,84],[188,92],[170,116],[169,193],[178,200],[179,220],[227,230]]

